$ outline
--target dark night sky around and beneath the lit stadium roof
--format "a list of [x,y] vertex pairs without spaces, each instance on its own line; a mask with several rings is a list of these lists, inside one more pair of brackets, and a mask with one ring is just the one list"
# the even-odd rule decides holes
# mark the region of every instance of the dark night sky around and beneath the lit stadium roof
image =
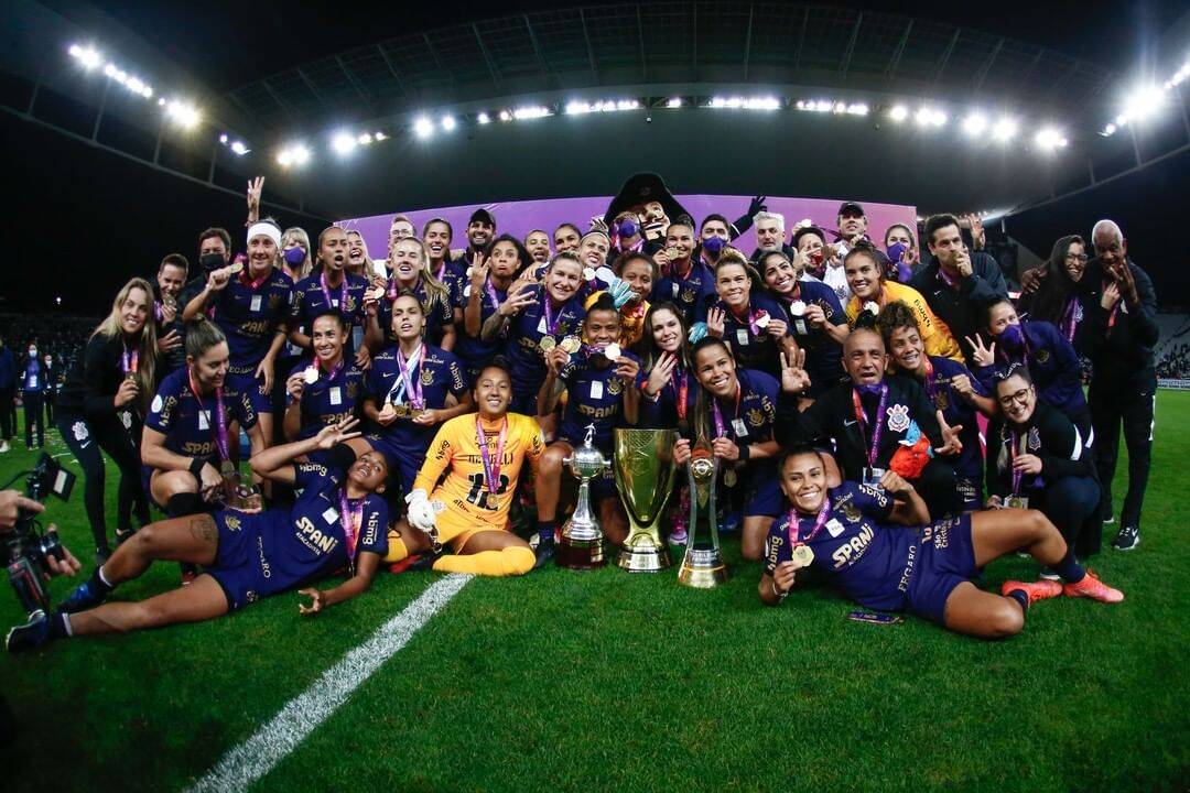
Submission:
[[[68,2],[46,0],[65,15]],[[560,4],[551,4],[557,7]],[[1127,73],[1184,12],[1184,0],[1097,4],[998,4],[996,13],[954,2],[845,2],[857,8],[934,17],[948,23],[1042,44]],[[124,0],[104,11],[132,30],[154,30],[152,42],[168,57],[223,93],[319,56],[380,40],[402,31],[539,10],[540,2],[416,4],[394,14],[344,11],[336,2],[157,2]],[[1065,20],[1065,21],[1064,21]],[[178,31],[176,37],[162,31]],[[184,31],[184,33],[183,33]],[[271,44],[268,61],[245,57]],[[133,272],[149,275],[161,257],[181,251],[195,257],[195,237],[208,225],[242,228],[243,200],[151,171],[98,152],[54,132],[0,114],[0,141],[15,244],[0,288],[0,310],[102,310]],[[238,178],[236,180],[239,181]],[[1180,228],[1188,206],[1190,152],[1108,187],[1010,221],[1010,231],[1039,253],[1064,233],[1086,233],[1097,216],[1123,226],[1138,262],[1154,273],[1166,302],[1190,289],[1185,257],[1171,253],[1170,228]],[[1155,201],[1155,197],[1165,200]],[[1172,201],[1169,200],[1172,197]],[[289,218],[289,220],[300,220]],[[318,222],[306,220],[317,232]],[[238,239],[238,234],[237,234]],[[45,266],[52,265],[52,266]]]

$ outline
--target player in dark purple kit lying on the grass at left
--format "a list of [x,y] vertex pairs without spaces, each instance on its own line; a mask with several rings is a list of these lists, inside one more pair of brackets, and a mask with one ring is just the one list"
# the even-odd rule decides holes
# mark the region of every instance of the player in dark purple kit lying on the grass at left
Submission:
[[[276,446],[251,460],[257,474],[302,489],[292,509],[245,512],[227,509],[151,523],[96,567],[52,615],[36,611],[8,631],[11,653],[52,638],[127,632],[178,622],[198,622],[299,587],[339,569],[350,578],[330,590],[302,589],[311,605],[302,615],[347,600],[367,590],[388,550],[388,506],[380,493],[389,467],[369,452],[353,459],[342,443],[358,435],[356,418],[325,427],[314,438]],[[293,462],[332,449],[327,464]],[[205,571],[188,586],[140,603],[102,603],[124,581],[157,560],[193,562]]]

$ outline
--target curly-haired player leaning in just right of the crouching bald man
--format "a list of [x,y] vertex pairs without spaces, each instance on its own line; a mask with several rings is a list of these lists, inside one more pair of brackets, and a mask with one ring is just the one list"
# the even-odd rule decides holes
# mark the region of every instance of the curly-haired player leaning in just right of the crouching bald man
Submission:
[[894,371],[920,383],[926,398],[942,411],[946,423],[963,428],[959,432],[963,448],[953,460],[954,484],[963,498],[963,510],[979,509],[983,504],[983,455],[976,413],[995,415],[995,401],[966,366],[950,358],[926,354],[917,316],[901,301],[884,307],[876,328],[884,339]]

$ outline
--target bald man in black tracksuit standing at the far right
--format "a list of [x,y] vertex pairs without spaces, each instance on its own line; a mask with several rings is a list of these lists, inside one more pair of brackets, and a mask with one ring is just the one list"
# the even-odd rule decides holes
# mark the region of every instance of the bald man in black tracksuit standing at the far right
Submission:
[[[1157,394],[1157,294],[1148,275],[1128,258],[1128,241],[1110,220],[1095,224],[1091,232],[1095,258],[1084,278],[1100,285],[1100,306],[1088,329],[1095,339],[1094,373],[1089,402],[1095,430],[1095,457],[1102,483],[1100,508],[1104,523],[1114,522],[1111,478],[1120,451],[1120,424],[1128,446],[1128,493],[1120,512],[1120,530],[1111,546],[1132,550],[1140,542],[1140,511],[1148,485],[1153,448],[1153,405]],[[1084,534],[1086,534],[1084,531]],[[1098,550],[1076,548],[1079,556]]]

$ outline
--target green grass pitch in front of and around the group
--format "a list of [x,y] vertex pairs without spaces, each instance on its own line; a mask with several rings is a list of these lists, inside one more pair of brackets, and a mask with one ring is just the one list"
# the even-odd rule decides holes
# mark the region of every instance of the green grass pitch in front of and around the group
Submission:
[[[1090,561],[1126,592],[1117,606],[1041,603],[1001,643],[915,618],[850,622],[827,591],[768,609],[738,537],[714,591],[614,568],[474,580],[255,789],[1185,789],[1190,394],[1160,392],[1157,422],[1144,542],[1116,553],[1109,527]],[[23,443],[0,455],[0,480],[32,460]],[[1121,460],[1117,504],[1125,478]],[[81,485],[49,517],[89,572]],[[1004,559],[985,581],[1034,572]],[[0,789],[183,789],[432,575],[382,573],[317,619],[287,594],[211,623],[5,655],[0,692],[20,735],[0,748]],[[162,564],[118,597],[176,581]],[[7,628],[23,615],[0,589]]]

